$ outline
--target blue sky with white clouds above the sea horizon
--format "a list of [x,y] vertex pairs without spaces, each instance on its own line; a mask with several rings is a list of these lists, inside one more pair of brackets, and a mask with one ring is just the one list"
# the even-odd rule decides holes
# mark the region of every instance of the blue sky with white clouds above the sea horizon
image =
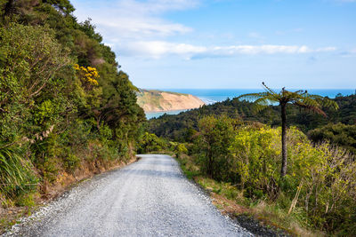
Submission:
[[356,0],[72,0],[145,89],[356,89]]

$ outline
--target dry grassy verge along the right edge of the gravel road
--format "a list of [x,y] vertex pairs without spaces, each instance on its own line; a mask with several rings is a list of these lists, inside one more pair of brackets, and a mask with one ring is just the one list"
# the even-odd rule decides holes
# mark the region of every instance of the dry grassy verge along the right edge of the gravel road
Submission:
[[[194,180],[213,198],[213,203],[224,215],[228,215],[239,222],[239,219],[252,219],[259,225],[270,229],[282,236],[325,236],[318,230],[311,230],[306,224],[306,217],[298,209],[287,214],[286,209],[279,207],[279,200],[274,203],[255,201],[244,197],[243,190],[229,183],[218,182],[206,178],[188,155],[180,155],[176,160],[187,178]],[[280,196],[279,199],[283,199]],[[246,226],[248,230],[248,226]],[[254,230],[249,230],[254,233]]]

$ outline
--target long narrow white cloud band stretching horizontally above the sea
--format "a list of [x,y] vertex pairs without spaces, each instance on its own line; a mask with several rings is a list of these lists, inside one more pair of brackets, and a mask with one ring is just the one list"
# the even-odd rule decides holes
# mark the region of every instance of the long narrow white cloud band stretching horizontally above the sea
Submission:
[[311,49],[305,45],[231,45],[197,46],[188,43],[168,43],[165,41],[141,41],[123,45],[121,53],[126,56],[140,56],[159,59],[167,55],[178,55],[184,59],[233,57],[241,54],[301,54],[311,52],[335,51],[334,47]]

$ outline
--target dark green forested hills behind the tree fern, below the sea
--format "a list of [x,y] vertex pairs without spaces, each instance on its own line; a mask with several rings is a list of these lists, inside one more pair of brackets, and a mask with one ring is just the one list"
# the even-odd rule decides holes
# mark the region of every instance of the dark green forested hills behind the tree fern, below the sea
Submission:
[[[299,128],[314,142],[329,140],[356,153],[356,95],[338,95],[333,100],[339,109],[324,108],[327,117],[307,109],[287,107],[287,124]],[[279,113],[279,106],[270,106],[257,112],[252,102],[226,99],[179,115],[162,115],[150,119],[148,128],[158,137],[190,142],[198,132],[198,121],[206,115],[227,115],[245,122],[261,122],[278,127],[281,122]]]

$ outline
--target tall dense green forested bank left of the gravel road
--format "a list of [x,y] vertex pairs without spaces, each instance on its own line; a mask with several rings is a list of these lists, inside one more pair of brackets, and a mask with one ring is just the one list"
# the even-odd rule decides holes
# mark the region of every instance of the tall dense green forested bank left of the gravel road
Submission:
[[68,0],[1,0],[0,11],[2,207],[133,158],[137,88],[91,21]]

